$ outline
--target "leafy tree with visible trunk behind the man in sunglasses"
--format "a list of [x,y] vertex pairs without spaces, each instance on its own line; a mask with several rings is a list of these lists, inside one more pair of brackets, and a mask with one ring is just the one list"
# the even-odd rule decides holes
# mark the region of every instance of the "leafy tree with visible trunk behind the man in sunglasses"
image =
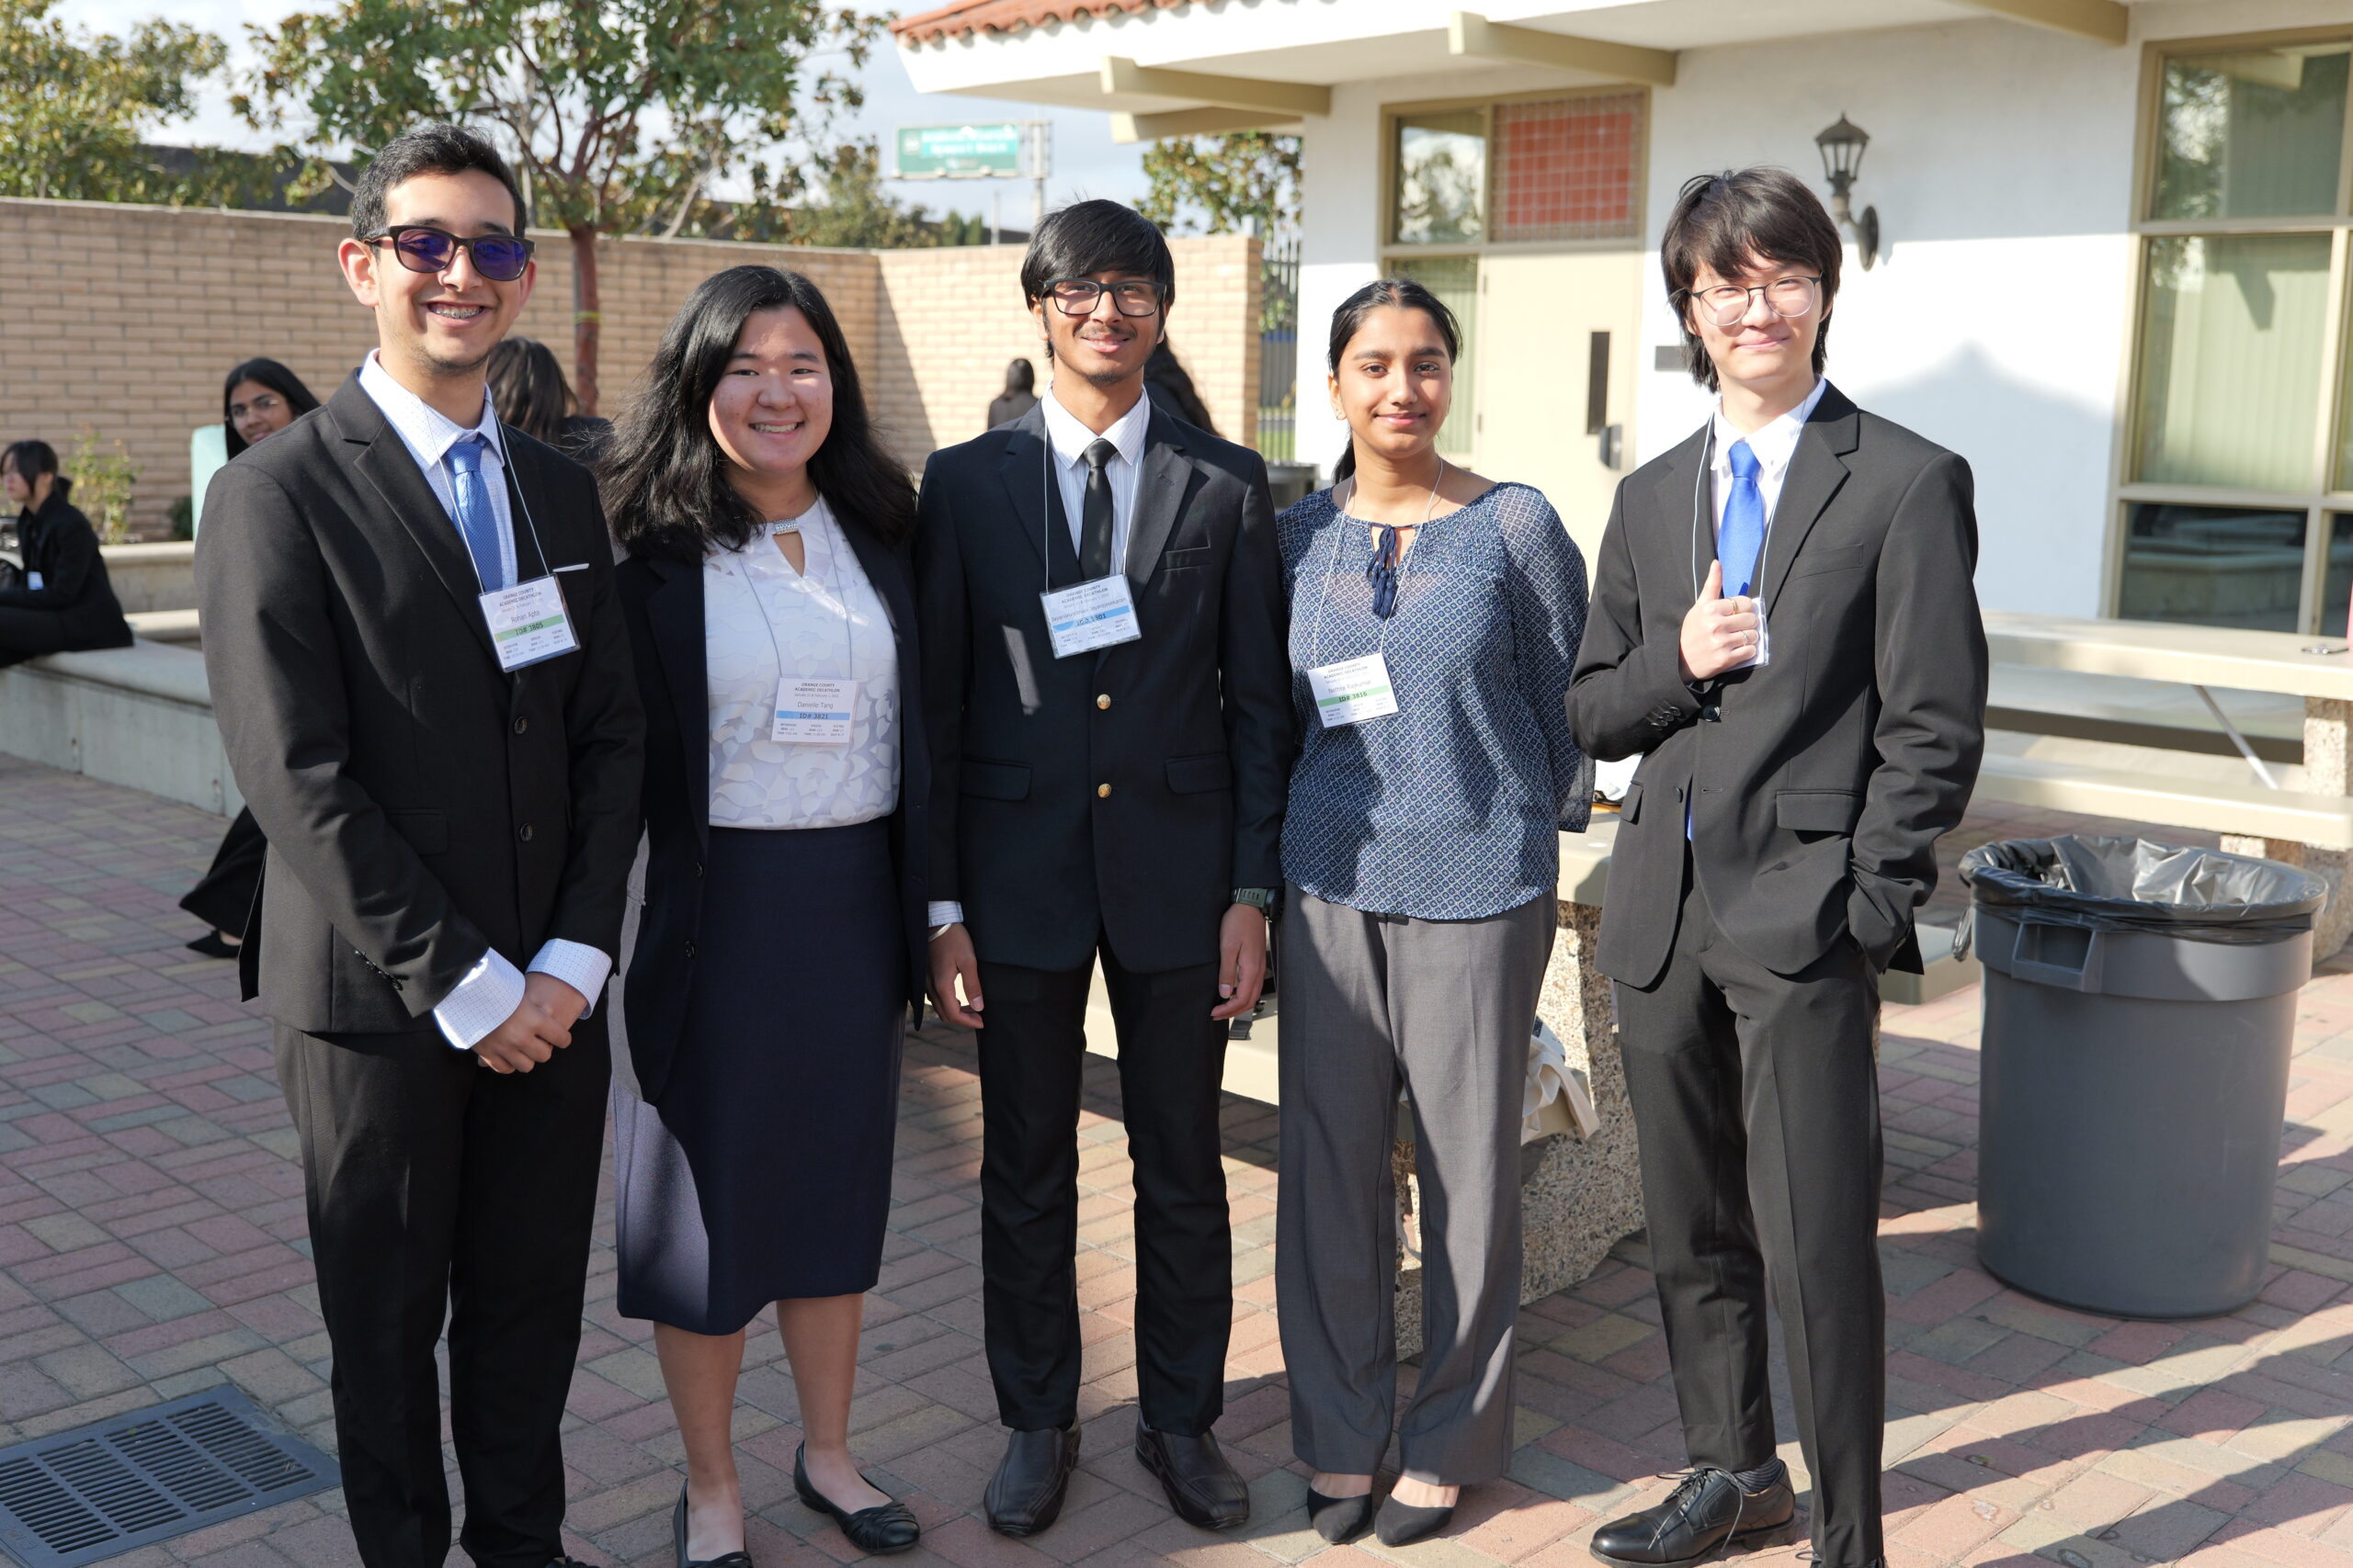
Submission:
[[400,132],[456,118],[515,158],[536,223],[572,240],[572,390],[598,407],[598,237],[675,235],[713,181],[788,200],[769,158],[856,85],[807,75],[840,49],[861,66],[882,19],[826,0],[334,0],[256,31],[238,108],[313,150],[365,160]]

